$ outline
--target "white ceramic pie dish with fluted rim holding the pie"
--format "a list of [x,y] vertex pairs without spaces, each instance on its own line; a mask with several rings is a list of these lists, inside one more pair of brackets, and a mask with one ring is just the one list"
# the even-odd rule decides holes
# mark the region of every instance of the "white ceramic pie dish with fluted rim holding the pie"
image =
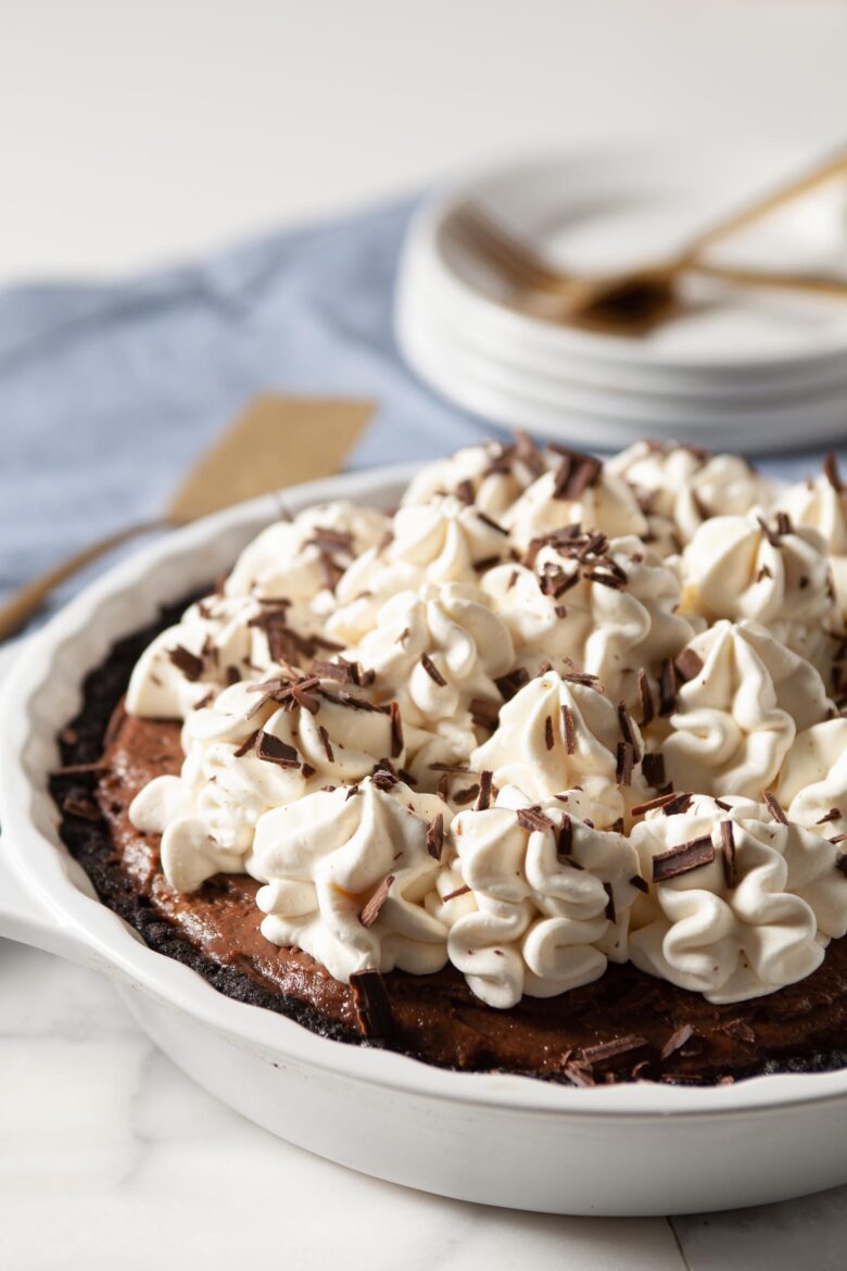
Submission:
[[[286,492],[297,511],[396,502],[408,469]],[[569,1214],[674,1214],[782,1200],[847,1181],[847,1070],[683,1089],[577,1089],[443,1071],[317,1037],[234,1002],[147,948],[61,845],[47,791],[55,737],[114,639],[227,568],[278,516],[241,505],[146,547],[28,641],[0,698],[0,934],[112,976],[187,1073],[281,1138],[464,1200]]]

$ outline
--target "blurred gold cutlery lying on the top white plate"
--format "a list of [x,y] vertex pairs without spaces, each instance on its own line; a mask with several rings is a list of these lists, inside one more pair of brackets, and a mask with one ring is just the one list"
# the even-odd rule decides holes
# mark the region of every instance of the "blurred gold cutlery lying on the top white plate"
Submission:
[[841,150],[801,177],[721,217],[667,261],[596,278],[565,273],[549,264],[528,243],[474,203],[457,207],[446,229],[512,282],[516,308],[608,334],[640,336],[679,310],[676,283],[683,273],[707,275],[740,286],[847,296],[844,278],[771,273],[702,258],[715,243],[843,173],[847,173],[847,151]]

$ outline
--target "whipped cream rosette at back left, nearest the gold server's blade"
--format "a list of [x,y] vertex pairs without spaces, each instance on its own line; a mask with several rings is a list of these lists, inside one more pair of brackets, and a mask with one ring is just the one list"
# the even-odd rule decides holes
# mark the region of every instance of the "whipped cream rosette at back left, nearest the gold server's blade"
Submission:
[[362,552],[381,541],[389,524],[372,507],[317,503],[263,530],[236,561],[226,595],[284,597],[292,605],[314,601],[335,587]]

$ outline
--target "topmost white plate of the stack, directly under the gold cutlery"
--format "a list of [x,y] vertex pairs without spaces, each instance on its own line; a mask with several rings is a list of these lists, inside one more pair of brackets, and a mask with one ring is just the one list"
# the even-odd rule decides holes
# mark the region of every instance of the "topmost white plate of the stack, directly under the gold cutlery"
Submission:
[[[494,297],[503,295],[499,277],[443,233],[450,211],[472,197],[565,267],[625,267],[667,254],[719,212],[809,160],[808,151],[692,141],[598,145],[488,170],[438,194],[419,212],[409,233],[401,281],[415,264],[450,302],[460,325],[485,324],[502,342],[559,355],[568,360],[568,374],[582,367],[590,376],[613,366],[631,388],[670,384],[710,390],[716,381],[809,383],[822,372],[843,374],[843,301],[709,283],[702,295],[710,302],[684,320],[643,339],[597,336],[498,304]],[[777,261],[781,267],[786,258],[818,268],[843,266],[841,203],[832,192],[820,200],[784,216],[777,233],[771,226],[768,234],[753,238],[747,258],[758,264]],[[822,206],[833,202],[830,215],[823,215]],[[739,252],[737,247],[734,255]]]

